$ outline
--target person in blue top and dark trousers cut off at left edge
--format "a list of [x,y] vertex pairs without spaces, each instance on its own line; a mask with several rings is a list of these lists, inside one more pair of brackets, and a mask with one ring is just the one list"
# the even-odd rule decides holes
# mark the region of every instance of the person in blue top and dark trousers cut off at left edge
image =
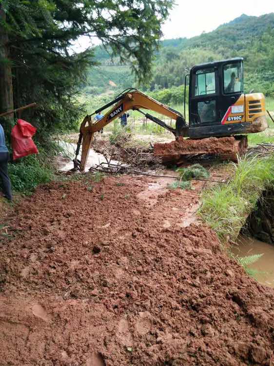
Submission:
[[9,151],[5,143],[3,127],[0,124],[0,180],[2,181],[4,197],[12,201],[11,183],[8,176]]

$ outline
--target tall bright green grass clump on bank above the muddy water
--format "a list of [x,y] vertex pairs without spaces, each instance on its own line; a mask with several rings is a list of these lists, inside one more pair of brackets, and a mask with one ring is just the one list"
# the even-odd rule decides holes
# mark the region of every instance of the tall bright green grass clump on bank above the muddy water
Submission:
[[232,179],[204,192],[199,215],[226,242],[235,240],[261,192],[274,184],[274,155],[231,163]]

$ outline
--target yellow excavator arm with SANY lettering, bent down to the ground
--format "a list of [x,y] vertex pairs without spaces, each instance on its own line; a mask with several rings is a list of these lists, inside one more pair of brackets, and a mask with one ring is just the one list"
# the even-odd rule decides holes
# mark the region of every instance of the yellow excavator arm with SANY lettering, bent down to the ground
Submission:
[[[114,106],[107,113],[105,113],[104,117],[102,117],[99,121],[93,123],[92,116],[110,107],[111,105]],[[143,111],[140,110],[140,108],[155,111],[168,118],[175,120],[176,128],[174,129],[171,126],[168,126],[165,122],[159,120],[157,117],[150,115],[149,113],[144,113]],[[146,118],[150,119],[151,121],[159,124],[160,126],[174,133],[175,136],[187,136],[188,126],[186,125],[185,120],[181,115],[181,113],[160,102],[157,102],[155,99],[147,96],[146,94],[138,91],[137,89],[130,89],[126,93],[119,95],[112,102],[109,102],[104,106],[102,106],[101,108],[97,109],[93,114],[87,115],[84,118],[80,126],[80,134],[77,144],[76,157],[74,159],[75,168],[79,168],[80,171],[85,170],[90,145],[94,137],[94,134],[130,109],[139,111],[140,113],[145,115]],[[77,157],[80,150],[80,146],[82,146],[81,160],[78,161]]]

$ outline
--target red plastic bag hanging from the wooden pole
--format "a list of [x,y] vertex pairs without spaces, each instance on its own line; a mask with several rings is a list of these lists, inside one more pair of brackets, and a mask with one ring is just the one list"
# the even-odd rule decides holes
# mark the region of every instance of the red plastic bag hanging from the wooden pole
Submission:
[[36,128],[30,123],[18,120],[18,123],[11,130],[11,144],[14,160],[38,153],[38,148],[32,141],[32,136],[35,132]]

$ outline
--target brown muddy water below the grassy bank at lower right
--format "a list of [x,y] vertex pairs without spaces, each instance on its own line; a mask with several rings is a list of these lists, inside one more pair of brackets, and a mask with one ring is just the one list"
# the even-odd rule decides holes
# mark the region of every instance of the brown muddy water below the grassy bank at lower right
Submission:
[[238,257],[264,254],[257,262],[249,265],[249,268],[258,271],[255,277],[260,284],[274,288],[274,245],[243,236],[238,238],[237,244],[232,252]]

